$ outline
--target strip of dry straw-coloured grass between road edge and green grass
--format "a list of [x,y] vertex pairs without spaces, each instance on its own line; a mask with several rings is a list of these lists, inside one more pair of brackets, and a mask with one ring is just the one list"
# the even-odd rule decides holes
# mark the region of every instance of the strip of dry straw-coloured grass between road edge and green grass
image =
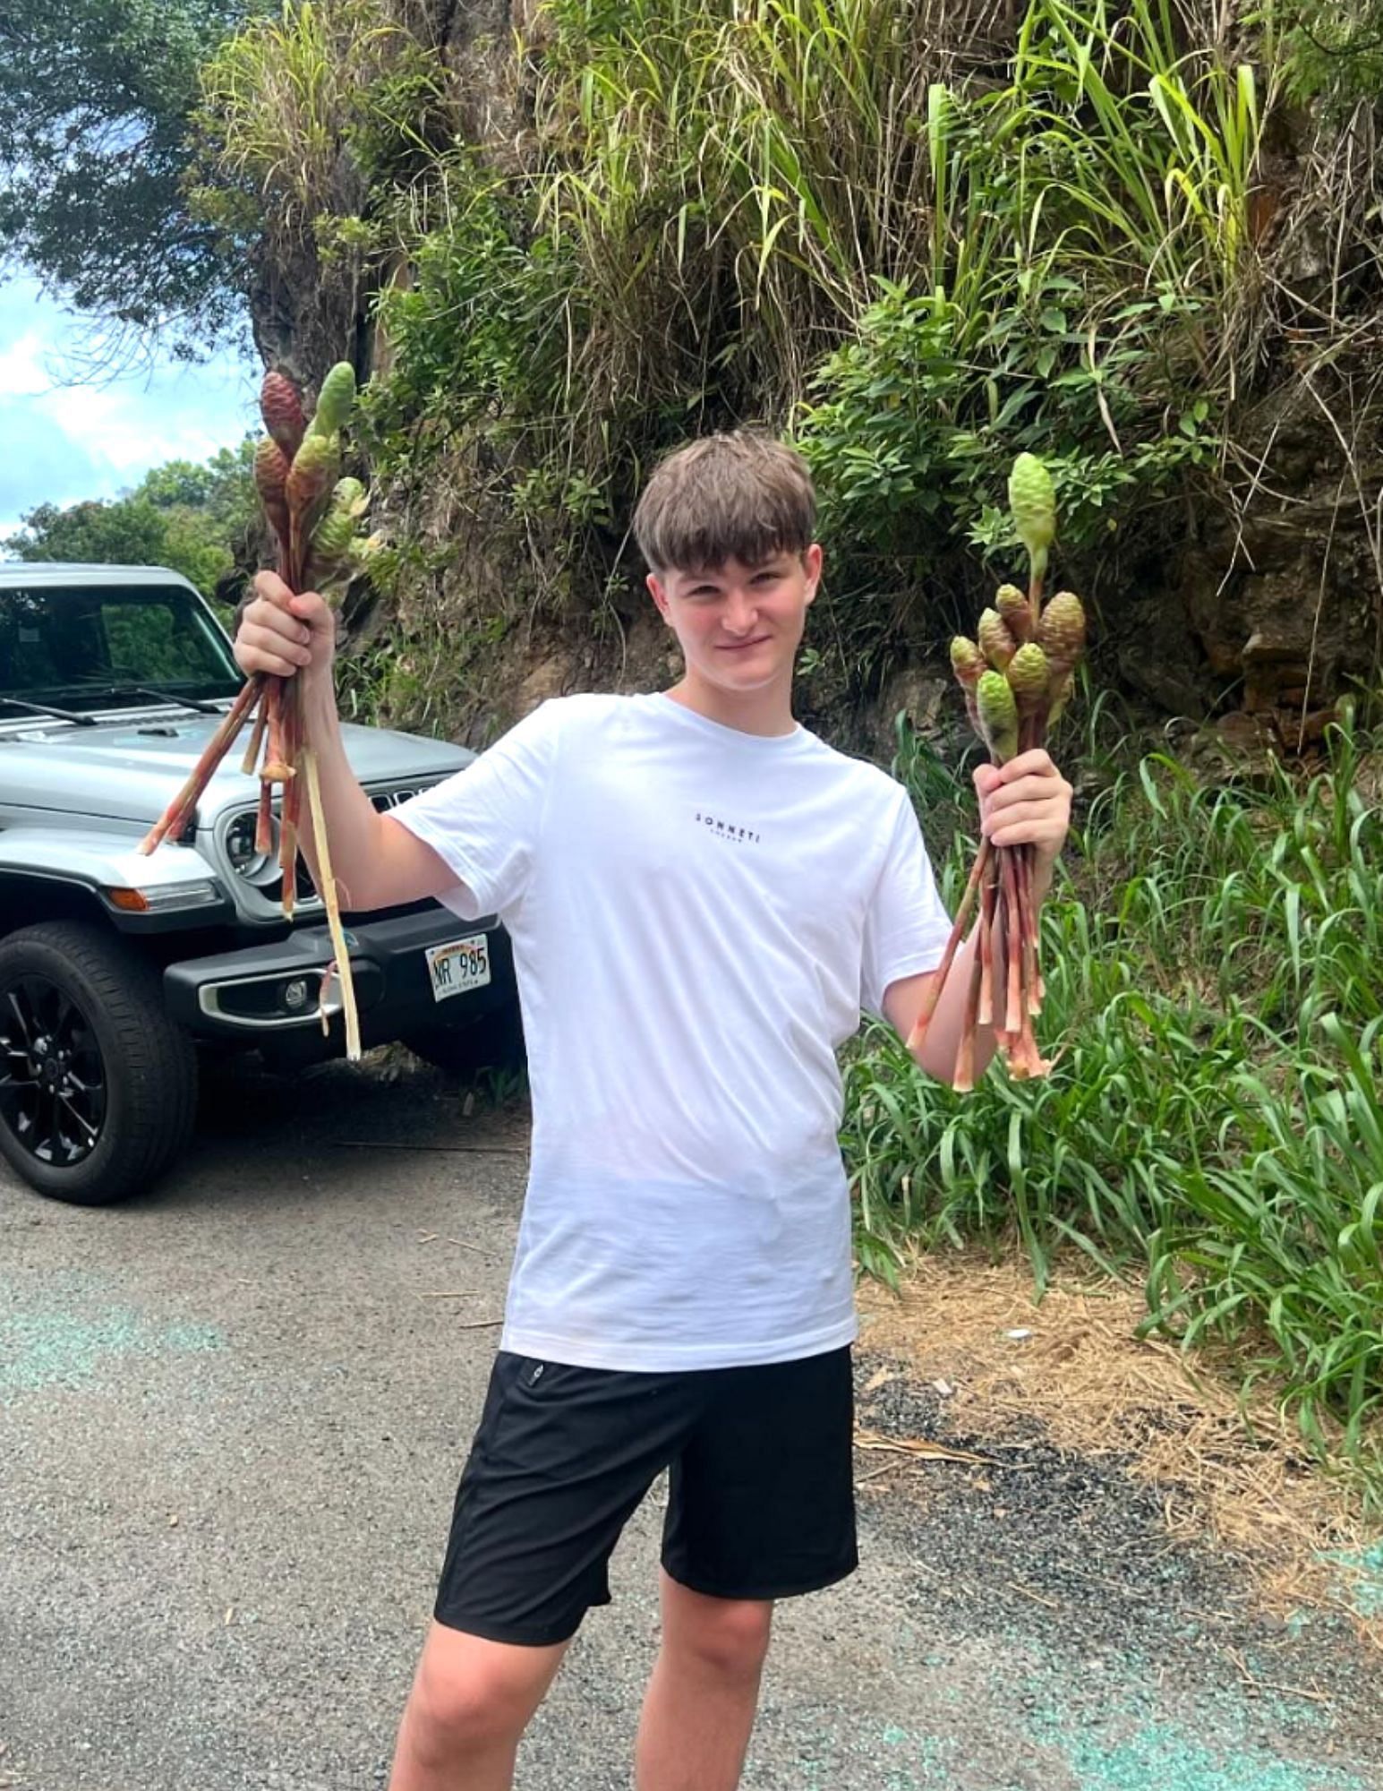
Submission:
[[1267,1610],[1329,1608],[1383,1648],[1383,1619],[1362,1617],[1322,1560],[1378,1540],[1351,1485],[1310,1461],[1267,1393],[1240,1399],[1241,1365],[1141,1341],[1139,1290],[1077,1272],[1034,1306],[1023,1264],[923,1257],[901,1297],[869,1284],[862,1309],[871,1350],[949,1388],[957,1438],[1001,1442],[1035,1420],[1059,1449],[1116,1458],[1159,1488],[1173,1538],[1241,1556]]

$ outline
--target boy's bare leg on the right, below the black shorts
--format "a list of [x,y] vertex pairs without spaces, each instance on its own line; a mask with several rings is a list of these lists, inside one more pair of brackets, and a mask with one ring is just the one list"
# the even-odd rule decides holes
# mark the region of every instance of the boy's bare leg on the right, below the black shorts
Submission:
[[663,1574],[663,1648],[636,1750],[638,1791],[734,1791],[774,1607],[704,1598]]

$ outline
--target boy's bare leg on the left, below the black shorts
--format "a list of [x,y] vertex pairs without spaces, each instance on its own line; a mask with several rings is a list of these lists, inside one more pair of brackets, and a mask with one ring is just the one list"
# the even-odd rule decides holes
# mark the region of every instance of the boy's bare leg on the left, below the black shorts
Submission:
[[511,1648],[434,1623],[394,1752],[389,1791],[509,1791],[523,1730],[566,1644]]

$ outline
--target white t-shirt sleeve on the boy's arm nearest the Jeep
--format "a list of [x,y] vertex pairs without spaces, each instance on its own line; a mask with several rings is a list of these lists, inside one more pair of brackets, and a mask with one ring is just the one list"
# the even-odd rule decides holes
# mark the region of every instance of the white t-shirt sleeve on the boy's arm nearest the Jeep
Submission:
[[478,759],[389,811],[455,872],[441,899],[462,921],[514,908],[528,887],[552,795],[563,704],[552,698]]

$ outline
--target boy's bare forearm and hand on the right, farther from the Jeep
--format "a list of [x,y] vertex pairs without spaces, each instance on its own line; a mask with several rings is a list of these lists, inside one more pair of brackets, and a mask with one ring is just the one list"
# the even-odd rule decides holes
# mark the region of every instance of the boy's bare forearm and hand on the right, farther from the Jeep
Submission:
[[[1071,786],[1052,763],[1046,749],[1019,752],[1007,765],[978,765],[975,788],[980,795],[980,833],[994,845],[1034,845],[1032,896],[1043,904],[1052,888],[1052,874],[1066,835],[1071,827]],[[951,1082],[960,1033],[966,1023],[966,994],[969,969],[978,949],[978,921],[966,944],[957,951],[946,978],[937,1010],[926,1028],[917,1064],[937,1082]],[[903,976],[889,985],[883,1014],[906,1039],[923,1010],[923,998],[937,971],[921,976]],[[975,1080],[989,1066],[996,1051],[994,1028],[975,1028]]]

